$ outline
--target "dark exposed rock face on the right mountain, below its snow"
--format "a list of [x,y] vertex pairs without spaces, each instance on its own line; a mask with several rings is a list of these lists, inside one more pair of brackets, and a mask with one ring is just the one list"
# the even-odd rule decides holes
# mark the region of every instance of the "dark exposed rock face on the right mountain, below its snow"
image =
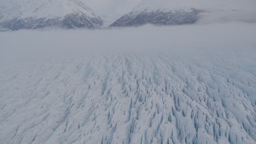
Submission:
[[161,10],[142,12],[131,12],[119,18],[110,26],[142,26],[145,24],[154,25],[182,25],[193,24],[198,20],[198,10],[187,11],[170,11],[163,12]]

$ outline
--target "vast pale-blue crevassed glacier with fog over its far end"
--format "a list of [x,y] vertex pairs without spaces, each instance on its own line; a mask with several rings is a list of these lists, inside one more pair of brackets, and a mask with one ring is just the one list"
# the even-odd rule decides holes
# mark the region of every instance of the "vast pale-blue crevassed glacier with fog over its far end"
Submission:
[[256,25],[0,33],[0,143],[256,143]]

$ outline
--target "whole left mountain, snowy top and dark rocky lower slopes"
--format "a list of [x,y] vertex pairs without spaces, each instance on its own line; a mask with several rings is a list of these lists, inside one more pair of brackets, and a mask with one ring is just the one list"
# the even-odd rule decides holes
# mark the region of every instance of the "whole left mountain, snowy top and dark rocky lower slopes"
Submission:
[[0,24],[10,30],[37,29],[48,26],[65,28],[102,26],[102,19],[79,0],[5,1],[0,10]]

